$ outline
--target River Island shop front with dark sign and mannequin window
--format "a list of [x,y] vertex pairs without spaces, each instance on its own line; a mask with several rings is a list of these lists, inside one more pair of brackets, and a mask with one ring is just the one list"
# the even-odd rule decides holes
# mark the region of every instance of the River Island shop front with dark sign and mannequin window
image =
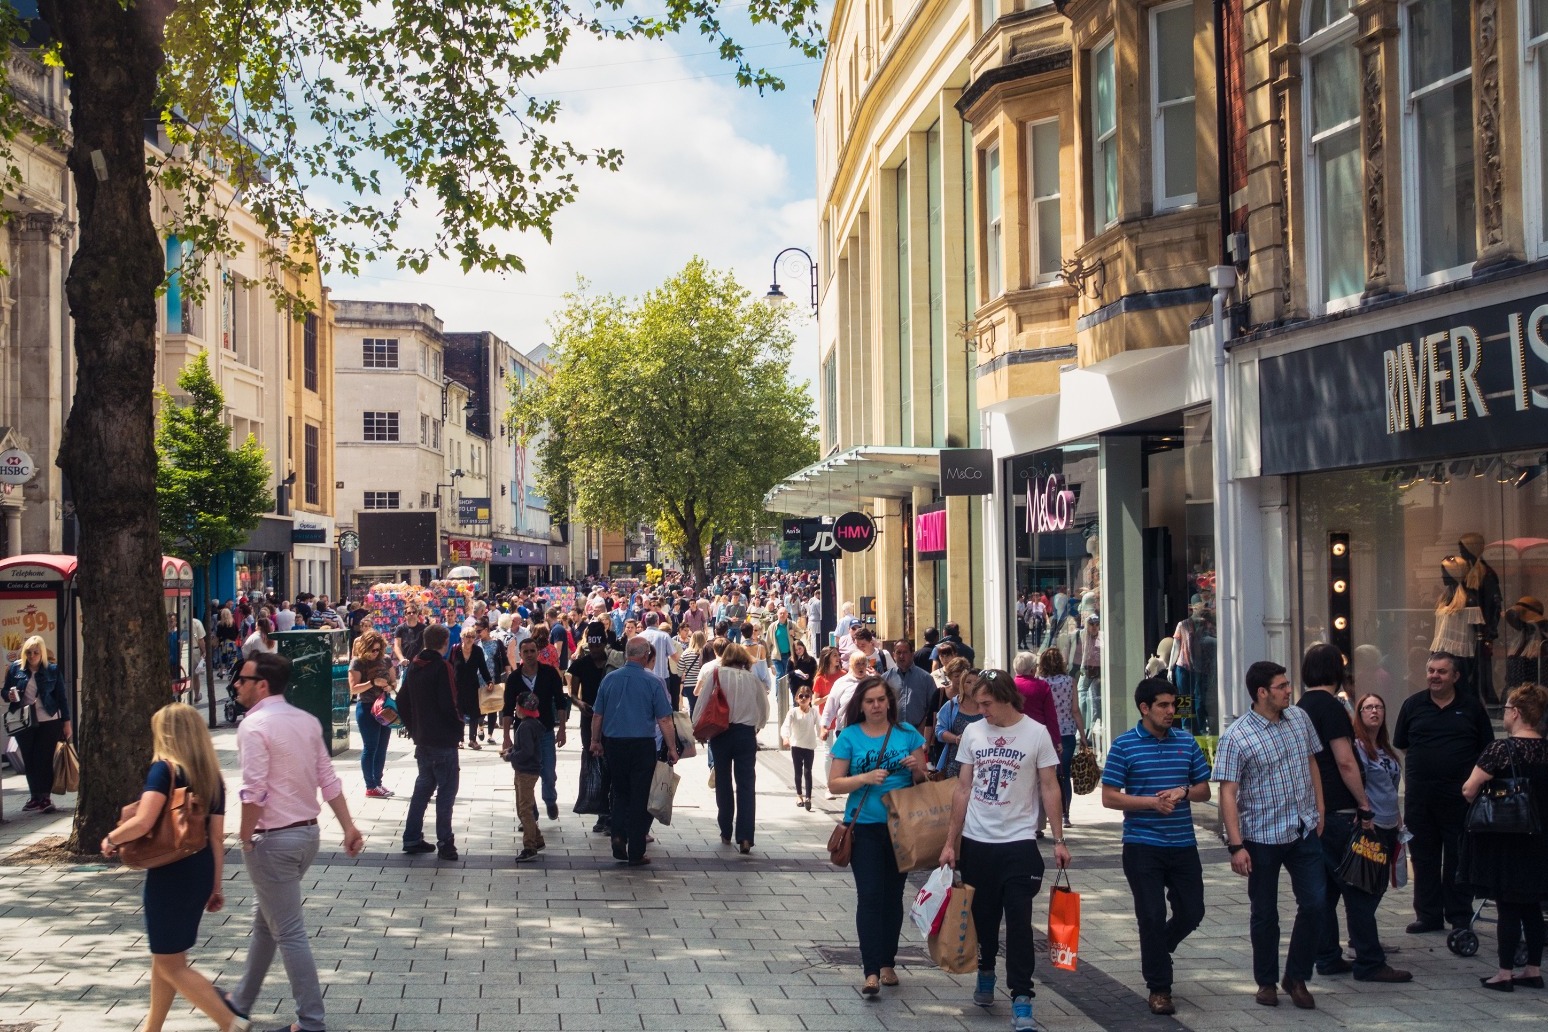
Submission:
[[1291,484],[1294,631],[1344,650],[1389,715],[1432,651],[1497,713],[1548,673],[1548,283],[1415,308],[1257,356],[1262,470]]

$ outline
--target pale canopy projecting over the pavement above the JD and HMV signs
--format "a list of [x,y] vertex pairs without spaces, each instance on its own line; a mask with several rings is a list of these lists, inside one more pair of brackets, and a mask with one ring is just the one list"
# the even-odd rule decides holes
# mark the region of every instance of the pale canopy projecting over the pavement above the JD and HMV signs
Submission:
[[768,512],[842,515],[873,498],[909,498],[941,480],[941,450],[861,446],[791,473],[763,495]]

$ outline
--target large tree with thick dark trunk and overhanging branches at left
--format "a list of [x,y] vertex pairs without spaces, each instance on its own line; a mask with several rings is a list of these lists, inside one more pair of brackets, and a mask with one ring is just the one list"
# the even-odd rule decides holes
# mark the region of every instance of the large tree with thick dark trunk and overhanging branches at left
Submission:
[[[76,848],[111,828],[124,786],[139,781],[149,718],[166,698],[153,447],[161,234],[190,244],[183,288],[195,292],[203,258],[237,249],[224,214],[238,198],[271,235],[260,266],[277,291],[296,271],[288,237],[297,227],[342,271],[384,257],[416,271],[435,258],[520,271],[503,231],[546,237],[574,198],[574,167],[621,161],[616,150],[550,136],[559,104],[533,77],[571,37],[698,31],[745,85],[780,85],[728,36],[718,0],[661,0],[650,17],[628,6],[39,0],[31,39],[48,39],[46,57],[70,80],[79,227],[65,285],[79,374],[57,461],[80,526],[82,607],[96,614],[82,664]],[[752,0],[743,11],[820,54],[817,0]],[[0,3],[0,46],[23,39],[11,5]],[[0,147],[37,132],[19,105],[0,104]],[[14,184],[15,162],[0,164]],[[155,196],[169,198],[155,210],[153,181]],[[418,207],[435,215],[430,240],[401,237]]]

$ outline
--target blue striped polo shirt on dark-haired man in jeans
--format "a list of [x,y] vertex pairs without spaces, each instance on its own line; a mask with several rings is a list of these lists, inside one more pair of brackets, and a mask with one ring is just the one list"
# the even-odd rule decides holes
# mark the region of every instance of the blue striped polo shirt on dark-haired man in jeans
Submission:
[[[1107,750],[1102,784],[1128,795],[1156,795],[1167,789],[1192,788],[1209,780],[1209,761],[1194,736],[1176,727],[1164,738],[1146,730],[1141,721],[1118,736]],[[1152,809],[1124,811],[1124,842],[1147,846],[1194,846],[1194,814],[1187,800],[1170,814]]]

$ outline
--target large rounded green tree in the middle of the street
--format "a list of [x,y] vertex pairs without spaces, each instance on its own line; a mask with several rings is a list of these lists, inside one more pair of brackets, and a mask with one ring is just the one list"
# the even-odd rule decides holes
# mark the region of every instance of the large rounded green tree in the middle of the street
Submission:
[[698,258],[639,300],[570,294],[551,374],[511,384],[539,490],[573,520],[653,525],[704,583],[724,542],[769,525],[769,487],[816,461],[793,343],[785,309]]

